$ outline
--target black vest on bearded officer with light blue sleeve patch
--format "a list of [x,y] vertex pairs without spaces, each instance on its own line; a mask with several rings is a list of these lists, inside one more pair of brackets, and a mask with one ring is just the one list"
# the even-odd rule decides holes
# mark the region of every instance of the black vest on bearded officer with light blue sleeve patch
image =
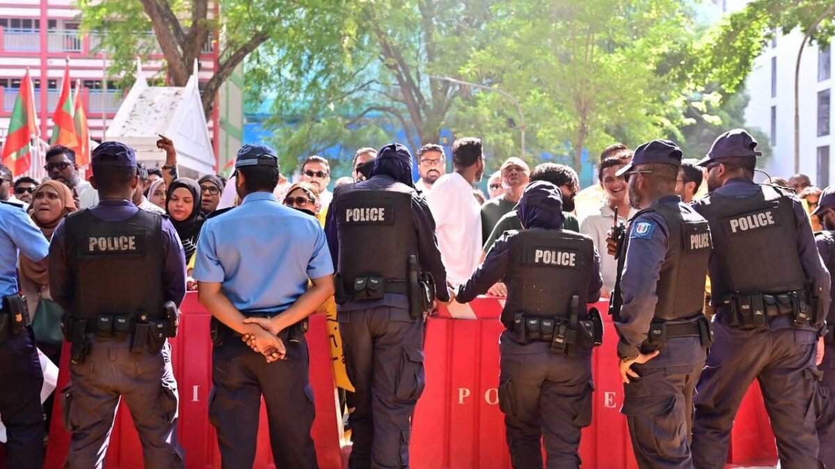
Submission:
[[[678,205],[655,203],[649,209],[635,214],[632,219],[647,212],[655,212],[664,217],[670,232],[660,278],[655,287],[655,295],[658,297],[655,319],[679,320],[692,317],[701,312],[705,304],[711,230],[701,215],[689,210],[683,211]],[[627,233],[623,253],[629,249],[629,243]]]

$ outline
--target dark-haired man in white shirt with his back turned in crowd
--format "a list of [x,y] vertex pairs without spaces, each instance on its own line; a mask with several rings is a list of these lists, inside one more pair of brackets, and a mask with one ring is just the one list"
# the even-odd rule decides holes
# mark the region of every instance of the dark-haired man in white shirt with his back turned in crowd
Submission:
[[426,195],[435,219],[438,247],[447,280],[458,288],[469,280],[481,255],[481,207],[473,197],[473,184],[484,174],[480,139],[453,143],[453,173],[441,176]]

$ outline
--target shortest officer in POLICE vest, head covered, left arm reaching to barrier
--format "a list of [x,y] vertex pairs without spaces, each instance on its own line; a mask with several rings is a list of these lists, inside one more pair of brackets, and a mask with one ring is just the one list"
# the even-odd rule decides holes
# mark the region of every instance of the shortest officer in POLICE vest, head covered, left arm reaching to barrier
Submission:
[[554,184],[529,184],[518,208],[525,229],[505,232],[456,295],[466,303],[508,285],[498,402],[514,467],[542,467],[540,440],[548,467],[579,467],[591,423],[591,350],[603,323],[586,304],[600,298],[603,278],[591,238],[562,229],[562,199]]

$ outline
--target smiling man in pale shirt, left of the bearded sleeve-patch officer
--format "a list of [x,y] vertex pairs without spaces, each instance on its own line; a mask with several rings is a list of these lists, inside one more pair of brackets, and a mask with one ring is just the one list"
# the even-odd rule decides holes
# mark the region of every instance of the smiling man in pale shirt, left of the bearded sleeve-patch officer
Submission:
[[595,247],[600,252],[600,274],[603,275],[604,295],[610,295],[615,289],[615,277],[617,275],[618,261],[609,254],[606,249],[606,237],[609,230],[615,224],[615,209],[617,210],[618,223],[626,223],[635,214],[635,209],[629,204],[629,184],[623,176],[616,176],[618,169],[623,168],[627,159],[613,156],[600,162],[597,175],[600,179],[600,187],[603,188],[606,198],[600,205],[596,214],[586,216],[579,224],[579,232],[588,235],[595,242]]

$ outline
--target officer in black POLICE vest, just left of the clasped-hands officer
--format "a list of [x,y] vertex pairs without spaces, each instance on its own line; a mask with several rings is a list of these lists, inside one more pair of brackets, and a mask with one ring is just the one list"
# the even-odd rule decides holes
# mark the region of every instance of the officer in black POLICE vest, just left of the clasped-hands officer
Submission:
[[142,441],[145,467],[183,467],[176,443],[179,397],[170,345],[185,296],[185,256],[162,215],[132,202],[134,150],[105,142],[93,151],[99,204],[69,214],[49,248],[49,287],[67,314],[70,385],[61,391],[72,434],[68,467],[101,467],[119,400]]

